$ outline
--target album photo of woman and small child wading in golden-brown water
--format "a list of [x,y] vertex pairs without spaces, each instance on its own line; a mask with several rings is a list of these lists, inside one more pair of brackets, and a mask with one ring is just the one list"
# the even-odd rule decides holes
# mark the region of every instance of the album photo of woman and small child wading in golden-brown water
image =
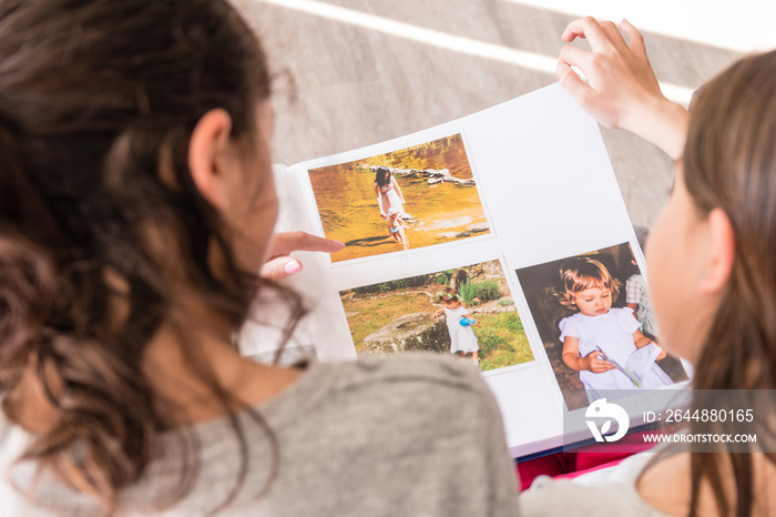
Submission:
[[333,262],[490,232],[460,133],[308,173]]

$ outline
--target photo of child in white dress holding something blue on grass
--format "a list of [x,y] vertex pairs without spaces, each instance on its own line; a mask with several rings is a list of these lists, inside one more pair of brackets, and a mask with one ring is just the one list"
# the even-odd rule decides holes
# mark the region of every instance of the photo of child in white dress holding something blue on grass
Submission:
[[339,295],[359,354],[456,354],[482,372],[533,361],[499,261]]

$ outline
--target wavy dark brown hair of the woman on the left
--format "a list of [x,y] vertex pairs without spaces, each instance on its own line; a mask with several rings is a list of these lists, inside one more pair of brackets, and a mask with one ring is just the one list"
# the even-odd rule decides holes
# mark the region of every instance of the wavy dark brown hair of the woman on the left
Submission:
[[[173,293],[185,288],[237,325],[267,284],[237,266],[228,229],[194,186],[187,146],[215,108],[232,116],[235,140],[254,135],[257,102],[268,95],[263,51],[226,1],[0,3],[3,409],[19,423],[27,379],[42,387],[54,424],[21,460],[72,485],[68,473],[80,473],[105,513],[167,428],[141,358],[162,322],[185,330]],[[185,337],[193,375],[235,410],[195,336]],[[175,497],[191,486],[191,466]],[[235,490],[244,475],[243,466]]]

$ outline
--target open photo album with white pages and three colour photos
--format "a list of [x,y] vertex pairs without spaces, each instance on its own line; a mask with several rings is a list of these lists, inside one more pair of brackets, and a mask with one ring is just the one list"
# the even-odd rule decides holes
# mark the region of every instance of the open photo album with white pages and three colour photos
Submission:
[[[559,85],[274,172],[277,231],[346,243],[297,255],[308,315],[280,362],[455,355],[491,387],[515,458],[591,438],[566,416],[604,396],[639,399],[636,427],[655,393],[688,384],[660,347],[598,123]],[[257,307],[241,349],[274,361],[283,304]]]

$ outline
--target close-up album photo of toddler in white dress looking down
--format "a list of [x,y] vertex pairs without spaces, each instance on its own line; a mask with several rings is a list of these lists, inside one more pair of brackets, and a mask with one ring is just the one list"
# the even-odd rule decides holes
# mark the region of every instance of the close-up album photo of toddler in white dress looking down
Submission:
[[[517,271],[569,410],[687,379],[660,346],[629,243]],[[609,395],[611,398],[611,395]]]

